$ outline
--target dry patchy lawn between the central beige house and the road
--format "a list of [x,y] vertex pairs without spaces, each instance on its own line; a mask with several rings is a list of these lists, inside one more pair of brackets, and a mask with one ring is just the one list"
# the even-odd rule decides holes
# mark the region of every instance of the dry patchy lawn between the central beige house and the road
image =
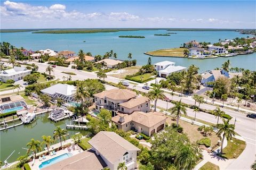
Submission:
[[[170,125],[172,123],[176,123],[176,121],[173,121],[170,116],[167,118],[166,122]],[[192,143],[204,138],[203,134],[201,134],[201,132],[197,130],[199,126],[182,120],[179,120],[179,124],[183,128],[183,132],[187,133],[188,138]],[[207,138],[211,139],[211,147],[215,146],[218,143],[218,140],[220,140],[215,132],[212,132],[212,135],[207,136]]]

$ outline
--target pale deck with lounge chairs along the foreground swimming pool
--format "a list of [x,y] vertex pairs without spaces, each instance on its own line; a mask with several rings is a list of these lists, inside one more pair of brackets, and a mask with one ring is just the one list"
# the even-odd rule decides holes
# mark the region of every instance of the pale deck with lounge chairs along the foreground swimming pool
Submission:
[[[50,148],[52,148],[52,147],[50,147]],[[73,150],[72,147],[70,147],[70,149],[71,149],[70,152],[68,151],[67,148],[62,149],[62,150],[59,150],[59,151],[56,152],[56,155],[53,155],[53,156],[46,155],[46,156],[45,156],[45,157],[46,157],[45,159],[43,159],[43,160],[41,160],[41,161],[39,161],[39,159],[35,159],[34,165],[32,165],[32,164],[33,164],[33,161],[32,161],[32,162],[29,162],[28,165],[30,166],[31,169],[39,169],[39,165],[41,165],[42,162],[45,162],[45,161],[47,161],[47,160],[50,160],[50,159],[52,159],[52,158],[55,158],[55,157],[57,157],[57,156],[60,156],[60,155],[66,154],[66,153],[71,153],[71,154],[74,156],[74,155],[77,155],[77,154],[79,154],[80,152],[83,151],[83,150],[82,150],[80,147],[78,147],[77,145],[75,145],[75,148],[76,148],[76,150]],[[78,149],[77,149],[77,148],[78,148]]]

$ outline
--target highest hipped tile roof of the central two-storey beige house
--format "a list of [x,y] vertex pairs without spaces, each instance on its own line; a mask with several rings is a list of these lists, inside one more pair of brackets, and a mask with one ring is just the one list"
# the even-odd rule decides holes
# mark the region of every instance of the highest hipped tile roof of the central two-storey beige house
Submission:
[[98,98],[107,97],[113,100],[129,100],[136,97],[137,95],[136,92],[127,89],[113,89],[99,92],[98,94],[94,94],[93,96]]

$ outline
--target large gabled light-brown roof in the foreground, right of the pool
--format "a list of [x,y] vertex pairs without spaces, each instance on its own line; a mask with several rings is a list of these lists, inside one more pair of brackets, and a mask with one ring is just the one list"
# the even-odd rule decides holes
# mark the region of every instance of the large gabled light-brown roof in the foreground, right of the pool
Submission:
[[127,151],[140,150],[115,132],[100,131],[88,143],[110,163],[115,163]]

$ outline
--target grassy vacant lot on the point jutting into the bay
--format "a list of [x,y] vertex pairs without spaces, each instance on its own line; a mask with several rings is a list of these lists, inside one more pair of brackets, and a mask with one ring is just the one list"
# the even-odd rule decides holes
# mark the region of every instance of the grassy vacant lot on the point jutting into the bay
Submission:
[[146,54],[153,56],[164,56],[164,57],[184,57],[183,50],[186,48],[170,48],[170,49],[159,49],[153,52],[146,52]]

